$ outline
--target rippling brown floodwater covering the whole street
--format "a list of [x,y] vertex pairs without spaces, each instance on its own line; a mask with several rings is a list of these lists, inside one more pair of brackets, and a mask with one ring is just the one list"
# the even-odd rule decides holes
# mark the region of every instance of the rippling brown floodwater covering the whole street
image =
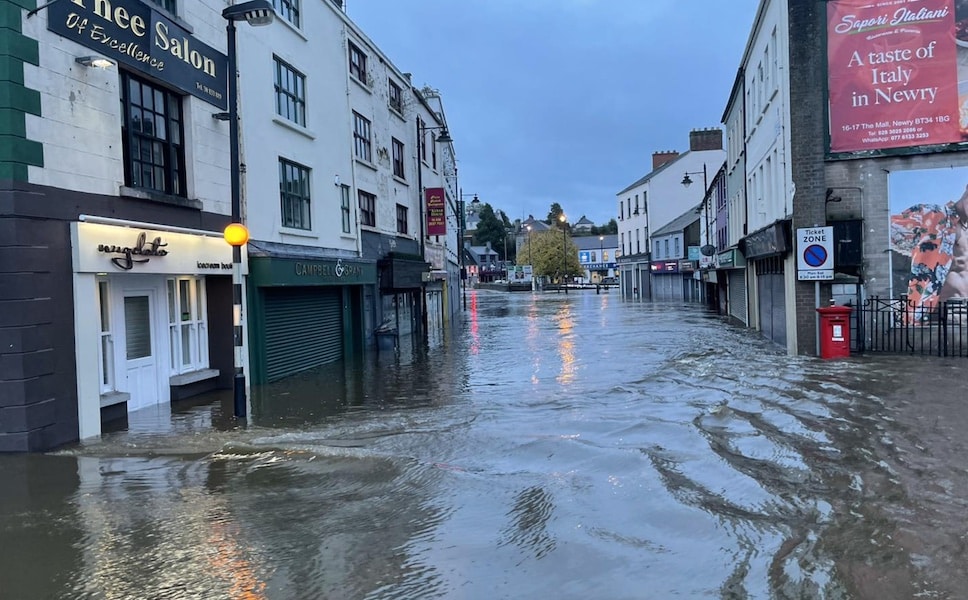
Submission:
[[[0,455],[0,598],[964,598],[964,359],[469,291],[383,352]],[[378,367],[374,369],[374,366]]]

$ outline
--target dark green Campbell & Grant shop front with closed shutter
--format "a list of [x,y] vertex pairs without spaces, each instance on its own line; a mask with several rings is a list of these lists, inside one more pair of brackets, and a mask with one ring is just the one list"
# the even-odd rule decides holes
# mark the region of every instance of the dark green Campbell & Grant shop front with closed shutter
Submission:
[[376,263],[250,256],[248,324],[253,383],[359,355]]

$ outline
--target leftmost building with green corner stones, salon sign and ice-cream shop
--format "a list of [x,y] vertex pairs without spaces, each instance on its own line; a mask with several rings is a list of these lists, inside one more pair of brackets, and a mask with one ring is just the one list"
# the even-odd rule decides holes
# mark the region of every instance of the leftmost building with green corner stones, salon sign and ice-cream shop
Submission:
[[222,8],[5,11],[0,450],[231,386]]

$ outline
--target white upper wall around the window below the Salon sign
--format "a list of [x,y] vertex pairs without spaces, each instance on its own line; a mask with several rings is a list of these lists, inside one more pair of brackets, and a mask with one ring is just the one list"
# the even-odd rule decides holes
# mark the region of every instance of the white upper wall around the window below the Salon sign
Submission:
[[[181,19],[200,41],[225,52],[224,3],[182,3]],[[37,90],[42,116],[27,115],[27,138],[44,146],[44,166],[31,166],[30,183],[79,192],[119,195],[124,184],[118,68],[77,64],[96,54],[47,29],[47,11],[23,20],[24,35],[38,40],[40,65],[24,65],[24,85]],[[219,108],[186,96],[184,109],[187,192],[203,210],[229,212],[228,131],[212,114]]]

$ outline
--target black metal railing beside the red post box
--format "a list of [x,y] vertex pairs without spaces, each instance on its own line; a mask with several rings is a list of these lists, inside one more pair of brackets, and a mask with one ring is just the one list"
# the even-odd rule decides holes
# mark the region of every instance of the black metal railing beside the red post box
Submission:
[[873,296],[851,314],[851,350],[968,356],[968,301],[918,306],[907,296]]

